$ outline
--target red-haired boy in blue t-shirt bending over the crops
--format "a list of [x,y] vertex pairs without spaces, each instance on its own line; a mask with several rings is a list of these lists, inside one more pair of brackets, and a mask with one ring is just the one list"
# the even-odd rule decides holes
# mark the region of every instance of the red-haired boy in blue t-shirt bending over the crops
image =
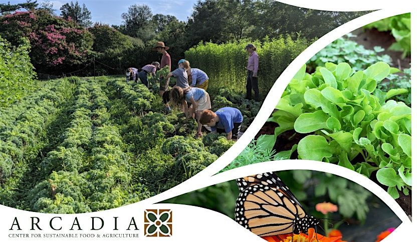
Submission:
[[238,139],[243,116],[237,108],[224,107],[216,112],[204,110],[200,115],[200,123],[211,127],[212,132],[226,133],[227,139]]

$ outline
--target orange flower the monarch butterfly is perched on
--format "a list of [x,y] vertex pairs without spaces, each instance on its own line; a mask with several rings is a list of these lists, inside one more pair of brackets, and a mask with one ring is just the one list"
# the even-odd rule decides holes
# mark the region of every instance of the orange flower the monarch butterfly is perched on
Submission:
[[268,242],[346,242],[341,240],[342,236],[326,237],[309,228],[307,234],[279,234],[274,236],[262,237]]

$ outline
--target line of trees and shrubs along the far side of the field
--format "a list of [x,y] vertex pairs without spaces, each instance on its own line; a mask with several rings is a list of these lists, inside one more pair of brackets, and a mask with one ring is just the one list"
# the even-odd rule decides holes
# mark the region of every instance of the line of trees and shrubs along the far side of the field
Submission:
[[37,72],[62,74],[84,68],[77,75],[91,75],[92,65],[86,65],[95,57],[98,74],[121,73],[126,67],[158,60],[157,53],[150,51],[156,41],[170,47],[174,62],[200,42],[286,35],[313,40],[364,14],[303,9],[274,0],[198,0],[186,21],[153,14],[149,6],[136,4],[121,15],[121,25],[109,26],[93,24],[91,12],[78,1],[66,3],[60,11],[56,16],[48,1],[0,4],[0,36],[15,46],[22,43],[22,36],[27,37]]

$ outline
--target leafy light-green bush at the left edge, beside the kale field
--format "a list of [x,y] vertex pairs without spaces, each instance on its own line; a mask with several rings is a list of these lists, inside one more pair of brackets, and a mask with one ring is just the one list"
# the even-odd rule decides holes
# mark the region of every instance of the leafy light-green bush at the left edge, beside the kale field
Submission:
[[0,107],[20,100],[32,90],[36,73],[29,57],[30,48],[27,39],[12,47],[0,37]]

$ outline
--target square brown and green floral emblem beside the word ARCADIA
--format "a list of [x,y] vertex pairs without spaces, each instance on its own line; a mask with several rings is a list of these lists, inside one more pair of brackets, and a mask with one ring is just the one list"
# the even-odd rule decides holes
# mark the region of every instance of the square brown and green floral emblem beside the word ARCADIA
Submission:
[[145,210],[145,237],[172,236],[172,211],[170,209]]

